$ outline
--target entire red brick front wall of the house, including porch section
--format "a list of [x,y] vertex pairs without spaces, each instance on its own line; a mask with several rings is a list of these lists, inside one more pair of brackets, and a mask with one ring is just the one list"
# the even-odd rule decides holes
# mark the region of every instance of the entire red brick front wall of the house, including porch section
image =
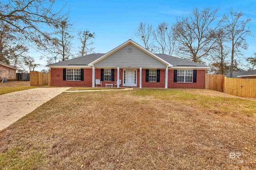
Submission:
[[[119,72],[123,86],[123,69]],[[137,69],[137,87],[140,87],[140,69]],[[117,69],[115,69],[114,80],[117,81]],[[95,79],[100,79],[100,69],[95,69]],[[168,88],[190,88],[204,89],[205,70],[197,70],[196,83],[174,83],[174,70],[168,70]],[[102,87],[106,83],[113,84],[115,81],[102,81]],[[92,87],[92,69],[84,69],[84,81],[63,81],[63,69],[51,69],[51,85],[52,86],[81,86]],[[146,82],[146,69],[142,69],[142,87],[164,88],[165,87],[165,69],[160,70],[160,82]]]

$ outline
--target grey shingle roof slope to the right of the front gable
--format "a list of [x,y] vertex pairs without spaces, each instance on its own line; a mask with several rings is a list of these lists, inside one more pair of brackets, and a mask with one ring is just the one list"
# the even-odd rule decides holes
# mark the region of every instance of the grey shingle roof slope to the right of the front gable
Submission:
[[202,64],[188,61],[186,59],[181,59],[178,57],[173,57],[171,55],[166,55],[166,54],[156,54],[156,55],[164,59],[168,63],[171,63],[173,67],[208,67],[206,65],[202,65]]

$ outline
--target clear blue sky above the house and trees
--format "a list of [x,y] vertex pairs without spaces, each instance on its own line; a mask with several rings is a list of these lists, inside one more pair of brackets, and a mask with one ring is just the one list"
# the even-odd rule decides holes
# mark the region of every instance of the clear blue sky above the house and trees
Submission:
[[[58,6],[63,3],[58,2]],[[133,39],[134,30],[139,23],[148,22],[156,27],[161,22],[170,25],[176,17],[186,16],[194,8],[205,7],[218,8],[218,16],[228,14],[231,7],[240,9],[244,17],[251,18],[250,29],[254,37],[248,37],[249,48],[245,51],[246,56],[252,56],[256,52],[256,0],[76,0],[67,1],[70,9],[70,21],[74,22],[75,30],[90,30],[95,32],[94,47],[96,53],[106,53],[121,43]],[[76,36],[76,32],[73,33]],[[74,53],[77,53],[78,41],[73,41]],[[46,65],[39,57],[40,53],[31,49],[30,55],[37,63]],[[45,67],[37,70],[45,69]]]

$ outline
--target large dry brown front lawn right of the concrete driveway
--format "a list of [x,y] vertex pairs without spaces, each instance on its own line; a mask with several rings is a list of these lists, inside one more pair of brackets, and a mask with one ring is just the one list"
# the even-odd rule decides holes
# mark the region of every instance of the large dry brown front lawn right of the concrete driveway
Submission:
[[62,93],[0,132],[0,169],[255,169],[256,102],[203,91]]

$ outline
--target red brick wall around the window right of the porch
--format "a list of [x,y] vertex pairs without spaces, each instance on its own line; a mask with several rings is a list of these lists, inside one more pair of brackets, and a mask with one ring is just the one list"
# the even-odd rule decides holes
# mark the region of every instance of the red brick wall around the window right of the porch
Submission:
[[168,89],[187,88],[187,89],[204,89],[205,70],[197,70],[196,83],[174,83],[174,70],[168,70]]

